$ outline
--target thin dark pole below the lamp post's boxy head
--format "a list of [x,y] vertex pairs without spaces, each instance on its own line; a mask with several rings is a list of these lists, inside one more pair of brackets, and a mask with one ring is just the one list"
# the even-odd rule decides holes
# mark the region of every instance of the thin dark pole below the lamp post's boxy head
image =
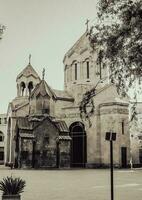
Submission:
[[113,141],[110,140],[110,177],[111,177],[111,200],[114,200],[113,190]]

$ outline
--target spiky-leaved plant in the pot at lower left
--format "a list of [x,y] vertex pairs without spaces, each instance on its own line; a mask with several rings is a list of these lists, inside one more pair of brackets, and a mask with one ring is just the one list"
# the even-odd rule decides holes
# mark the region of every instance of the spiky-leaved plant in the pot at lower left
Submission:
[[3,192],[3,195],[16,195],[24,192],[24,187],[26,182],[21,178],[13,178],[12,176],[3,178],[0,181],[0,190]]

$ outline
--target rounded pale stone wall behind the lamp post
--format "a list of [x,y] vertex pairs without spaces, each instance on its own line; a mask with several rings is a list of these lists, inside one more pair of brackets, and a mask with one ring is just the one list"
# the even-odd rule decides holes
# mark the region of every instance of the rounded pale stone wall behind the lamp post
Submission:
[[[116,132],[114,142],[114,165],[121,166],[121,148],[127,148],[127,165],[130,163],[130,135],[128,127],[128,105],[102,105],[100,107],[101,121],[101,162],[104,165],[110,163],[109,142],[105,140],[106,132]],[[124,122],[124,133],[122,133],[122,121]]]

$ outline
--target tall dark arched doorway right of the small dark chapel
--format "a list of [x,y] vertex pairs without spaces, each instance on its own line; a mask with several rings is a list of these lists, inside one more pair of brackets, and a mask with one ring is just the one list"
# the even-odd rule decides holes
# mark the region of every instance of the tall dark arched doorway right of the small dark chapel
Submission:
[[87,162],[86,132],[84,124],[74,122],[70,126],[71,167],[85,167]]

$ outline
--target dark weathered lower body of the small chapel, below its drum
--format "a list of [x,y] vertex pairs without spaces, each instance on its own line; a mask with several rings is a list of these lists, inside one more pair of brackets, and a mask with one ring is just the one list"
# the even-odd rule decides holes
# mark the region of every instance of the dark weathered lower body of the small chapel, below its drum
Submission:
[[[62,136],[62,139],[59,137],[60,131],[56,124],[57,122],[54,123],[49,116],[44,118],[41,118],[41,116],[36,118],[35,116],[30,116],[30,118],[18,119],[15,138],[15,162],[17,167],[69,167],[69,164],[67,165],[66,162],[64,165],[66,157],[61,157],[61,155],[62,153],[69,155],[70,140],[64,136]],[[66,148],[63,145],[68,146]],[[59,157],[61,157],[60,161],[58,160]]]

